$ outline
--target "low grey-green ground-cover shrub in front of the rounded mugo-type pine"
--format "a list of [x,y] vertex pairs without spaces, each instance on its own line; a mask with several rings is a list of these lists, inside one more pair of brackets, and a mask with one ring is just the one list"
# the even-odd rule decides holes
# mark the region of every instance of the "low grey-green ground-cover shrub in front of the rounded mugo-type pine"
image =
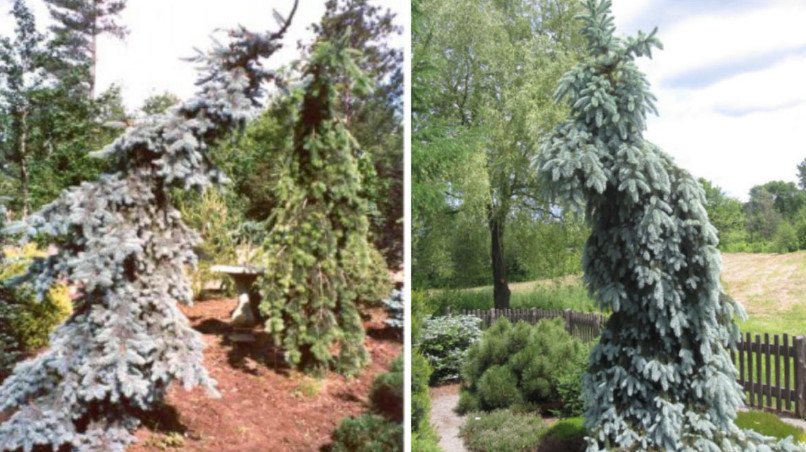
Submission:
[[470,413],[460,434],[471,451],[534,450],[545,431],[540,416],[513,410]]

